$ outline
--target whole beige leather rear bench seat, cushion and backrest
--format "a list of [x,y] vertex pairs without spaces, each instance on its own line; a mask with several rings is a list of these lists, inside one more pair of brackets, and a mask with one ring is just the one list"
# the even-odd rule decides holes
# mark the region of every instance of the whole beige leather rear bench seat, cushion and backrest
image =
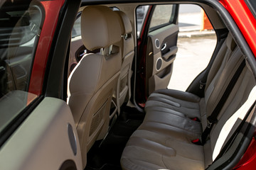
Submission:
[[[244,56],[229,34],[208,74],[205,98],[168,89],[151,94],[146,102],[144,121],[124,148],[122,169],[206,169],[218,156],[227,134],[233,132],[229,122],[240,113],[246,113],[255,101],[255,79],[246,65],[218,114],[218,122],[213,125],[206,144],[191,142],[201,137],[208,115],[217,106],[243,60]],[[225,128],[228,132],[223,130],[224,125],[228,126]],[[222,139],[220,132],[226,134]]]

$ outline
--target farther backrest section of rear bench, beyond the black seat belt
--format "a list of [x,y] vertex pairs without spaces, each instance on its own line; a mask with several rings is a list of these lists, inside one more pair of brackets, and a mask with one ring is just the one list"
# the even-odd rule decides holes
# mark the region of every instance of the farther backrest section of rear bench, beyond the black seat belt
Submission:
[[[241,51],[229,33],[208,74],[204,98],[206,111],[201,113],[202,119],[206,120],[208,115],[214,110],[225,91],[225,87],[228,86],[230,79],[240,65],[242,58]],[[234,64],[238,64],[237,67],[234,67]],[[203,121],[203,128],[206,127],[206,122]]]

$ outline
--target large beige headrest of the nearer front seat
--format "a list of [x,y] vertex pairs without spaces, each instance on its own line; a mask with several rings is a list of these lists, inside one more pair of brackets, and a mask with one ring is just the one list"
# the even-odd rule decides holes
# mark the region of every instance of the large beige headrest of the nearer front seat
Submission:
[[87,6],[81,15],[82,42],[88,50],[109,47],[121,40],[117,13],[107,6]]

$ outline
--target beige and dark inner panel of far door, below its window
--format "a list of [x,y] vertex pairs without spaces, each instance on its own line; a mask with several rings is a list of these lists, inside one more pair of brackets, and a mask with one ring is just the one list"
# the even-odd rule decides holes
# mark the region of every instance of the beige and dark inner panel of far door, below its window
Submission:
[[178,51],[177,38],[178,25],[174,23],[149,32],[146,49],[148,95],[167,88]]

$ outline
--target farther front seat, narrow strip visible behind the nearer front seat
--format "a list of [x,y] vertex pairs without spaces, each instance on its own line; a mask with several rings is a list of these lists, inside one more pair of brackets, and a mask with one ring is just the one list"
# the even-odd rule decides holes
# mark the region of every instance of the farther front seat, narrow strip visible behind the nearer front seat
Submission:
[[114,101],[117,103],[117,111],[124,101],[131,97],[132,60],[134,58],[134,38],[132,35],[132,24],[128,16],[122,11],[115,11],[119,16],[122,30],[122,40],[119,42],[122,49],[122,67],[117,81],[117,90],[114,93]]

